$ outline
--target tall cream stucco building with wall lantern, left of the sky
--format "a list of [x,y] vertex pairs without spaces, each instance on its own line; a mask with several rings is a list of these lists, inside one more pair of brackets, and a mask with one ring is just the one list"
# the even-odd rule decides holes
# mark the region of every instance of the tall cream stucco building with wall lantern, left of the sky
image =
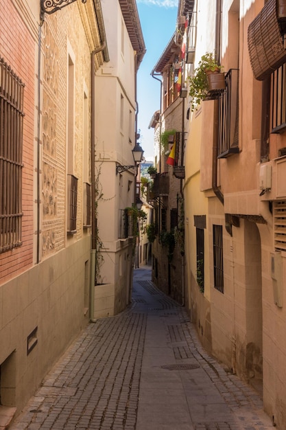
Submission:
[[126,208],[136,200],[132,157],[136,144],[136,73],[145,54],[136,2],[102,1],[102,11],[110,61],[98,69],[95,77],[95,175],[101,256],[95,317],[115,315],[131,299],[134,240],[128,232],[132,220],[126,218]]

